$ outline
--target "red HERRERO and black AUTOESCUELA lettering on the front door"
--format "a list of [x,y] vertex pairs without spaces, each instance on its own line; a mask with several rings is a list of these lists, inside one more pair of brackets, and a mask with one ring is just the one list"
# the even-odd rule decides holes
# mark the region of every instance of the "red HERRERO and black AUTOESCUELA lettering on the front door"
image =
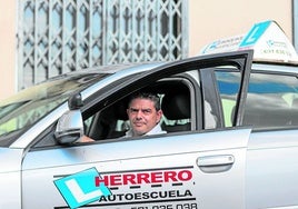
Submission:
[[125,170],[102,172],[95,179],[96,186],[102,183],[112,195],[101,197],[97,207],[127,209],[192,208],[197,199],[193,193],[196,182],[193,167],[152,168],[146,170]]

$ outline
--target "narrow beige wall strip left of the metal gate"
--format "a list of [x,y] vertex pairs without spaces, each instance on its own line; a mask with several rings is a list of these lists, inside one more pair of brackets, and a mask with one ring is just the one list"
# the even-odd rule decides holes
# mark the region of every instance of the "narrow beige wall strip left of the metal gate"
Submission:
[[16,1],[0,0],[0,99],[16,92]]

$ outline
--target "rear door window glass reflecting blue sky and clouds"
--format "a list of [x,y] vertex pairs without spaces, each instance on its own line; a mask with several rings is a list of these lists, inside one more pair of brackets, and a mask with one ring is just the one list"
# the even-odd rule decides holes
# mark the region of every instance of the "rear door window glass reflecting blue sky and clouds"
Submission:
[[298,125],[298,79],[294,76],[251,73],[244,125]]

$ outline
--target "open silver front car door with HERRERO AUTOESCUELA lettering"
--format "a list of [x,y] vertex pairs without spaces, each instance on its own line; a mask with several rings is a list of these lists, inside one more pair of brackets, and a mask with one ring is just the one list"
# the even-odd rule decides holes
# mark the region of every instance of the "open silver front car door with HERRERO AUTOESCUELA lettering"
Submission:
[[[244,98],[250,61],[251,51],[242,51],[165,64],[106,89],[82,111],[153,80],[230,64],[241,73],[238,94]],[[200,78],[197,82],[201,83]],[[217,126],[205,129],[208,92],[202,88],[208,86],[195,89],[195,92],[205,92],[202,97],[191,99],[191,122],[196,126],[190,131],[68,146],[33,145],[22,163],[22,207],[245,208],[246,149],[250,129]],[[217,88],[215,82],[210,88]],[[219,99],[213,101],[219,106]],[[241,99],[237,100],[237,106],[241,106]],[[212,113],[222,118],[220,108]],[[53,130],[44,131],[40,140],[52,138]]]

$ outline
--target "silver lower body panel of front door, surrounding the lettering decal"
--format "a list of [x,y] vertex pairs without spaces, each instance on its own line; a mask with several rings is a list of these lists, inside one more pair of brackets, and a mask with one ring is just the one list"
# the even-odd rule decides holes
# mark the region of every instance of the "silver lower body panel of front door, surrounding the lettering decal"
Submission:
[[[159,182],[161,185],[159,187],[153,187],[155,183],[152,182],[141,186],[147,189],[133,189],[136,185],[128,185],[130,187],[119,186],[117,190],[112,190],[116,199],[95,202],[95,208],[102,205],[105,205],[105,208],[131,208],[137,203],[139,207],[162,207],[166,205],[178,207],[183,203],[191,203],[193,207],[196,205],[198,208],[209,208],[216,207],[218,202],[226,208],[244,208],[244,162],[246,161],[246,147],[249,136],[250,129],[236,129],[221,132],[198,132],[157,138],[148,137],[147,139],[131,139],[128,141],[98,142],[68,149],[30,151],[22,166],[23,193],[29,188],[34,192],[46,190],[53,198],[51,201],[36,200],[31,193],[27,193],[23,198],[23,208],[32,208],[37,202],[39,206],[47,208],[66,207],[63,198],[59,195],[52,181],[59,177],[93,167],[103,177],[106,175],[131,172],[159,171],[162,173],[173,170],[180,172],[188,170],[192,177],[183,182],[183,187],[175,186],[176,182],[169,183],[162,180]],[[183,141],[183,146],[180,141]],[[157,149],[157,145],[159,149]],[[51,158],[52,156],[54,158]],[[234,160],[226,162],[225,157],[230,157]],[[42,165],[40,163],[41,160]],[[221,162],[221,160],[224,161]],[[209,183],[210,180],[212,181],[211,185]],[[116,186],[110,185],[109,187],[112,189]],[[209,190],[209,187],[212,189]],[[226,192],[227,189],[232,192]],[[155,197],[147,198],[145,195],[141,197],[135,196],[132,199],[127,197],[126,201],[119,199],[120,195],[123,193],[156,191],[173,192],[175,195],[171,195],[173,197],[168,195],[167,198],[159,197],[158,199]],[[226,201],[226,199],[234,198],[232,193],[238,193],[237,199]],[[216,202],[210,200],[213,196],[218,197]],[[173,201],[173,199],[176,200]],[[129,202],[130,205],[128,205]],[[91,206],[88,205],[88,207]]]

